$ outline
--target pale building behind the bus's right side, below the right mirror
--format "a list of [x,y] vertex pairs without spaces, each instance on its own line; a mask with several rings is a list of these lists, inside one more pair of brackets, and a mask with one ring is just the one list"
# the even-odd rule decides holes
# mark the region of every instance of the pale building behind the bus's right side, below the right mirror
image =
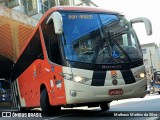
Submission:
[[143,52],[143,61],[147,72],[152,75],[153,71],[158,70],[157,45],[148,43],[141,45]]

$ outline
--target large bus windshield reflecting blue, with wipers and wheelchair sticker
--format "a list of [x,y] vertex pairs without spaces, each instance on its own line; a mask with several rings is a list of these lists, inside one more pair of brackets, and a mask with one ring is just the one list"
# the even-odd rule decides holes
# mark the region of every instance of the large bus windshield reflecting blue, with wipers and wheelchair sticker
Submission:
[[115,64],[142,59],[131,24],[122,15],[61,12],[66,60]]

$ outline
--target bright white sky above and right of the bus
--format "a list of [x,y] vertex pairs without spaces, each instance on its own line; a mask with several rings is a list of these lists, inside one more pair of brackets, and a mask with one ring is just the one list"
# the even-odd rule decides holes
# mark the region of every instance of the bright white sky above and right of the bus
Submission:
[[151,20],[153,34],[147,36],[142,23],[134,25],[141,44],[160,43],[160,4],[159,0],[92,0],[99,7],[118,11],[132,19],[147,17]]

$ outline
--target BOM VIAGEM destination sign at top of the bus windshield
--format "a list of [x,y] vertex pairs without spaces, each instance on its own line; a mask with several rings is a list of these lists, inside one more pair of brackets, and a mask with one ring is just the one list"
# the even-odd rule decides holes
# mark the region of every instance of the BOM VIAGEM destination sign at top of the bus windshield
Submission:
[[68,19],[93,19],[93,15],[68,15]]

